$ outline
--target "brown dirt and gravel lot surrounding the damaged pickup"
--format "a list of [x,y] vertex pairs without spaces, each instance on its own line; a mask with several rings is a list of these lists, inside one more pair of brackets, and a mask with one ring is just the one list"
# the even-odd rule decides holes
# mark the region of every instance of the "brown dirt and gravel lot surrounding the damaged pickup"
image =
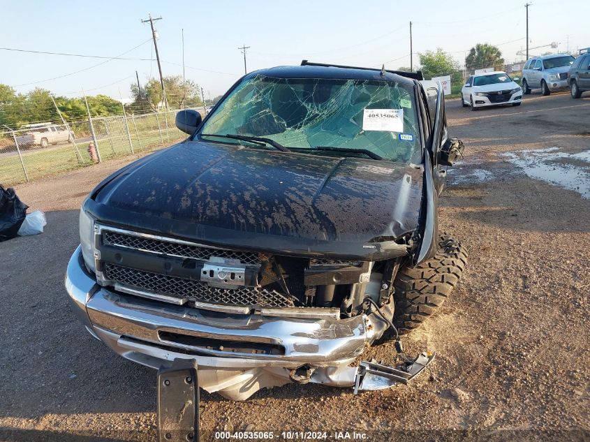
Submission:
[[[330,440],[336,430],[366,440],[590,439],[590,196],[581,196],[590,182],[590,97],[447,108],[466,159],[450,174],[439,219],[469,247],[469,262],[441,312],[404,337],[410,354],[437,352],[434,377],[359,396],[318,385],[260,391],[247,402],[203,393],[203,439],[246,425],[320,429]],[[522,152],[551,147],[534,162]],[[155,372],[91,338],[63,286],[80,202],[121,164],[17,189],[47,212],[48,225],[0,244],[1,440],[156,440]],[[535,170],[560,185],[533,178]],[[396,358],[392,344],[366,356]]]

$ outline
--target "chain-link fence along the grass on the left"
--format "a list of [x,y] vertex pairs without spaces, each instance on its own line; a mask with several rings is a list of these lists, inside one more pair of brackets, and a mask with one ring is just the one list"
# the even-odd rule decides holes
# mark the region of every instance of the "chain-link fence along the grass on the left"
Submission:
[[0,128],[0,183],[13,186],[172,145],[186,137],[175,126],[176,112]]

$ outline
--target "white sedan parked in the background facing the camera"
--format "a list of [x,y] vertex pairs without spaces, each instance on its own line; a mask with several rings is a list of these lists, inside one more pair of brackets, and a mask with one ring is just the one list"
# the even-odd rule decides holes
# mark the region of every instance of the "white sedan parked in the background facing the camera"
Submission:
[[471,110],[508,104],[519,106],[521,101],[522,89],[502,71],[471,75],[461,89],[462,105],[471,106]]

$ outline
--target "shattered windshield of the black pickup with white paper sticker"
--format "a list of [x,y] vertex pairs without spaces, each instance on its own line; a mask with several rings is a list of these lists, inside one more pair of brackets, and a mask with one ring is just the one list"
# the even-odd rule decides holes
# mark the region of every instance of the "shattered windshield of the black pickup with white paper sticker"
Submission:
[[[210,134],[270,138],[295,152],[369,151],[405,163],[421,152],[413,86],[392,81],[254,75],[219,103],[201,133],[218,142],[240,141]],[[320,147],[338,149],[314,151]]]

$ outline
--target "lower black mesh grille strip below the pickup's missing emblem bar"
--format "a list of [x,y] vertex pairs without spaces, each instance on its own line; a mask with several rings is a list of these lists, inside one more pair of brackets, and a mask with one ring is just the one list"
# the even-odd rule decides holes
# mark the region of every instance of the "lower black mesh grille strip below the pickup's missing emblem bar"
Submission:
[[144,272],[129,267],[104,263],[105,276],[111,281],[165,293],[173,297],[190,297],[191,300],[239,306],[293,307],[293,300],[275,290],[265,288],[218,288],[165,274]]

